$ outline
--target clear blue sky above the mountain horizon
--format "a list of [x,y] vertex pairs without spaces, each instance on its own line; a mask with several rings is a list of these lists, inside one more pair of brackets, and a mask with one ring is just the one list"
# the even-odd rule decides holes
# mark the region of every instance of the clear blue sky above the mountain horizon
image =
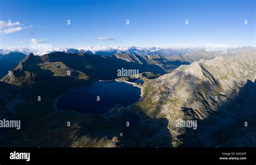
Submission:
[[255,46],[254,0],[0,0],[0,20],[2,48]]

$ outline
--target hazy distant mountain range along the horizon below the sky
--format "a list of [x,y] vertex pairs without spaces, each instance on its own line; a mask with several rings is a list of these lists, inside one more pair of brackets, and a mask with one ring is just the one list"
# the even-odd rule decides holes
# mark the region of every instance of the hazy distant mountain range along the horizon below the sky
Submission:
[[[89,48],[87,48],[89,49]],[[137,48],[137,47],[119,47],[116,49],[105,47],[91,47],[90,49],[94,50],[92,51],[85,51],[84,49],[60,49],[59,51],[53,51],[51,53],[46,54],[45,56],[53,56],[56,54],[67,55],[69,54],[82,54],[84,56],[83,59],[91,59],[89,65],[93,64],[93,61],[95,61],[94,65],[96,68],[99,66],[104,66],[105,64],[97,63],[98,60],[105,63],[105,61],[112,61],[115,63],[116,66],[119,66],[118,63],[120,63],[120,66],[124,64],[125,67],[128,66],[134,66],[137,64],[136,69],[140,69],[141,71],[152,71],[153,73],[168,73],[173,69],[176,69],[181,64],[189,64],[194,61],[199,61],[200,59],[205,60],[211,60],[218,56],[232,56],[242,53],[248,53],[248,52],[254,52],[256,48],[254,47],[241,47],[241,48],[232,48],[228,49],[226,53],[223,52],[208,52],[205,51],[205,49],[202,48],[196,48],[196,49],[171,49],[171,48]],[[0,49],[0,52],[5,52],[3,49]],[[120,51],[123,50],[123,51]],[[14,50],[12,50],[14,51]],[[22,51],[19,49],[19,51]],[[24,52],[24,50],[23,50]],[[91,56],[90,56],[91,55]],[[75,59],[76,55],[72,55],[73,59]],[[104,57],[104,56],[107,56]],[[9,54],[0,55],[0,63],[3,63],[0,66],[1,72],[0,77],[6,74],[8,70],[11,70],[14,68],[19,61],[21,61],[25,57],[24,53],[21,52],[11,52]],[[56,56],[57,58],[57,56]],[[81,58],[80,56],[78,58]],[[123,61],[120,61],[120,60]],[[71,60],[72,61],[72,60]],[[119,62],[118,62],[119,61]],[[110,64],[110,63],[106,64]],[[133,62],[133,63],[129,63]],[[121,64],[122,63],[122,64]],[[142,67],[142,64],[144,65]],[[111,64],[113,65],[113,64]],[[91,66],[90,66],[91,67]],[[156,67],[156,68],[154,68]],[[146,70],[145,70],[146,69]],[[99,69],[100,70],[100,69]],[[97,74],[96,74],[97,75]],[[113,77],[113,76],[109,76]]]

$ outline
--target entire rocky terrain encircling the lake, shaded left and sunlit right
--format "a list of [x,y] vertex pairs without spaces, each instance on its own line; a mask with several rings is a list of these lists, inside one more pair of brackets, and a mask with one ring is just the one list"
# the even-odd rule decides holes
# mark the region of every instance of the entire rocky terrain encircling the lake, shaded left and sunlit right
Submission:
[[[0,116],[24,122],[19,132],[1,133],[0,146],[256,145],[255,52],[200,60],[160,77],[140,74],[144,81],[143,98],[129,109],[117,106],[102,115],[53,109],[54,99],[63,92],[96,78],[108,78],[112,71],[116,73],[108,68],[113,63],[120,62],[113,69],[125,64],[131,68],[144,67],[144,71],[159,68],[162,71],[157,64],[150,66],[151,62],[156,63],[154,58],[158,57],[119,54],[114,58],[66,53],[26,56],[0,83],[3,101]],[[67,71],[71,71],[70,76],[66,75]],[[37,96],[42,101],[38,102]],[[131,118],[127,128],[126,121]],[[197,121],[197,129],[176,127],[179,118]],[[71,126],[67,126],[68,121]]]

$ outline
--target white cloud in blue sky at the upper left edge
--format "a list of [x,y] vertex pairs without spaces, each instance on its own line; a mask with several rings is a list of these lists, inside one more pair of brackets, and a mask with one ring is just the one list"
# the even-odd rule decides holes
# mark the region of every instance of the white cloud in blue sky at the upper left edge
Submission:
[[6,21],[0,20],[0,34],[8,34],[8,33],[14,33],[21,30],[24,30],[25,28],[31,28],[33,25],[25,27],[23,24],[16,21],[15,23],[7,23]]

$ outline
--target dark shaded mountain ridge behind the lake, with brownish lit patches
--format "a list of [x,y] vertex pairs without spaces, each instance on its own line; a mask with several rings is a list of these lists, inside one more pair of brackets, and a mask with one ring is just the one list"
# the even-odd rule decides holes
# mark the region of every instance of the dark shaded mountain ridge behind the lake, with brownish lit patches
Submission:
[[156,64],[127,62],[112,56],[57,52],[43,56],[29,54],[1,81],[64,92],[95,80],[113,80],[117,78],[117,70],[122,68],[165,73]]

